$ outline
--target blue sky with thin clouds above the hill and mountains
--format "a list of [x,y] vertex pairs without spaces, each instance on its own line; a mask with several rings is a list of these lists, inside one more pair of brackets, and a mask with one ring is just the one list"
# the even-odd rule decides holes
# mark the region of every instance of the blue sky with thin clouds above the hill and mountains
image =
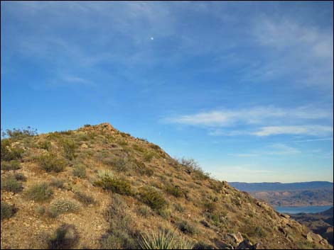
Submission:
[[333,181],[333,2],[1,1],[1,129],[108,122],[227,181]]

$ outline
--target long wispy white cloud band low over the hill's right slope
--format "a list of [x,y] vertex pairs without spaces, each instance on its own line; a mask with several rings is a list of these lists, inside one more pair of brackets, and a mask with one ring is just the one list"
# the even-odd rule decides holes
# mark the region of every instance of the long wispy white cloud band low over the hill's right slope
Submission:
[[[166,123],[208,128],[212,136],[256,135],[314,135],[333,134],[328,121],[330,110],[303,106],[298,108],[255,107],[235,110],[213,110],[193,115],[165,118]],[[242,129],[239,127],[242,126]]]

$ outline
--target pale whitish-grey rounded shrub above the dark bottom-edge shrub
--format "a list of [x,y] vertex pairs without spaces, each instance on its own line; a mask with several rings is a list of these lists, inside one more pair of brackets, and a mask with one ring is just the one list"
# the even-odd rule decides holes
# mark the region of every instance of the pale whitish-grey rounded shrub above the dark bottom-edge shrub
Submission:
[[80,204],[77,203],[75,200],[68,200],[68,199],[58,199],[53,200],[52,203],[50,203],[50,206],[48,208],[48,215],[50,217],[57,217],[60,214],[63,214],[65,212],[76,212],[80,209]]

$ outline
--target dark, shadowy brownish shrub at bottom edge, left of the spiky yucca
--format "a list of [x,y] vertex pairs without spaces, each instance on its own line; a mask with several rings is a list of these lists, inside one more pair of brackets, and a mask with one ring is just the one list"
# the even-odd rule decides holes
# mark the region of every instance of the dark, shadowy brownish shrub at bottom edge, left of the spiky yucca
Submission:
[[63,224],[48,239],[48,249],[72,249],[79,241],[74,225]]

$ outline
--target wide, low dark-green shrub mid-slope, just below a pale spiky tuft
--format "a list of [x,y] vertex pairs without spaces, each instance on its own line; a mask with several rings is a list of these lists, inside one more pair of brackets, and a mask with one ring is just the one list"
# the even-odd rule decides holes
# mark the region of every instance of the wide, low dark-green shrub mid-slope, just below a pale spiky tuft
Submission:
[[119,193],[120,195],[132,195],[131,184],[123,178],[104,177],[95,181],[95,185],[105,190]]

